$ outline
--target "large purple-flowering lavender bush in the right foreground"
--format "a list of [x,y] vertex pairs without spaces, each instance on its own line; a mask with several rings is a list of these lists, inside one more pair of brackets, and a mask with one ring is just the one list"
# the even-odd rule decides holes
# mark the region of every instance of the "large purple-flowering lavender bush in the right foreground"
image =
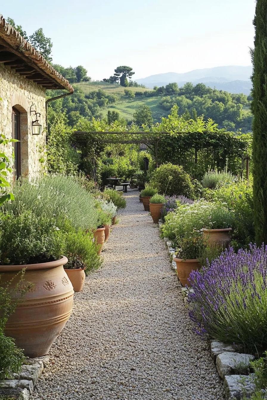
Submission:
[[192,271],[189,294],[196,333],[247,349],[267,346],[267,246],[225,250],[211,264]]

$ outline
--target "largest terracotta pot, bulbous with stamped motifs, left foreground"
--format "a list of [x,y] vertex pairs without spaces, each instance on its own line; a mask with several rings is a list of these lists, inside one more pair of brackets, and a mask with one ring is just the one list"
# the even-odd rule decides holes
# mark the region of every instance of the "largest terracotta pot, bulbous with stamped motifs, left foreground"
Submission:
[[6,336],[14,338],[30,358],[49,352],[72,312],[73,287],[63,268],[67,262],[62,257],[40,264],[0,266],[1,285],[13,279],[10,288],[15,288],[20,280],[20,274],[16,275],[24,268],[20,286],[31,284],[5,328]]

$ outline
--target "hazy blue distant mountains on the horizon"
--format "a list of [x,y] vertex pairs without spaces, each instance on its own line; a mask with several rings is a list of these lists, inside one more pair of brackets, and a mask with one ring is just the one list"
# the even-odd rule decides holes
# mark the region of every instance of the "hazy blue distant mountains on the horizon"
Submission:
[[147,76],[147,78],[137,79],[136,81],[148,88],[165,86],[170,82],[177,82],[179,86],[183,86],[186,82],[192,82],[194,85],[205,83],[206,86],[211,88],[215,87],[230,93],[248,95],[251,90],[251,74],[252,66],[223,66],[193,70],[183,74],[167,72],[165,74]]

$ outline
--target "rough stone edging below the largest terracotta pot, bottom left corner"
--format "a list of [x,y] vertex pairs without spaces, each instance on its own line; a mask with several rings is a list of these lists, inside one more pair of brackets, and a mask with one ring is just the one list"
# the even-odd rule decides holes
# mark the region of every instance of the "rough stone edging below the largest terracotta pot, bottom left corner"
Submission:
[[0,400],[10,398],[12,400],[29,400],[37,379],[40,378],[48,363],[49,356],[28,358],[22,365],[20,373],[13,375],[13,379],[0,381]]

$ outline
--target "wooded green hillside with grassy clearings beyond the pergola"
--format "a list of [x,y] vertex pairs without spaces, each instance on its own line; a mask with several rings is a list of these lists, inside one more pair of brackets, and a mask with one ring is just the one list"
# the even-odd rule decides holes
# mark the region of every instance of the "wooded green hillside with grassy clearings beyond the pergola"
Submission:
[[[241,129],[251,131],[252,115],[250,101],[244,94],[231,94],[205,86],[191,83],[178,87],[171,83],[167,86],[147,88],[127,87],[106,82],[81,82],[75,85],[84,93],[88,101],[96,104],[97,117],[105,118],[108,110],[118,112],[127,122],[133,120],[133,114],[139,106],[149,106],[153,122],[160,122],[168,116],[171,108],[178,106],[179,114],[187,118],[203,115],[205,120],[213,119],[220,128],[228,130]],[[98,90],[101,92],[98,92]],[[134,98],[125,95],[124,90],[136,93]],[[138,92],[138,93],[137,93]],[[106,98],[104,98],[106,97]],[[93,110],[94,111],[94,110]]]

